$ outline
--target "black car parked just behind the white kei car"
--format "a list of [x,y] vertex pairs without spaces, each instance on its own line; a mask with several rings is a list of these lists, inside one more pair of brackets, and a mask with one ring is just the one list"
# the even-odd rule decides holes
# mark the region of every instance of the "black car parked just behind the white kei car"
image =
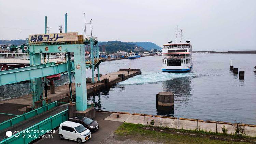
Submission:
[[73,121],[75,123],[82,124],[90,131],[97,131],[99,129],[97,121],[92,120],[88,117],[71,117],[68,119],[68,121]]

